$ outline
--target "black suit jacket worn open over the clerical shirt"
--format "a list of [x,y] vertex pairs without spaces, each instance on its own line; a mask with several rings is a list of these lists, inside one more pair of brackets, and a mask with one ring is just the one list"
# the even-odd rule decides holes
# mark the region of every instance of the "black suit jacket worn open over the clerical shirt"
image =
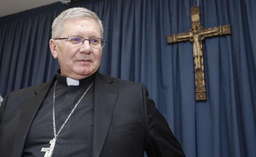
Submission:
[[[22,157],[27,133],[53,82],[5,97],[0,107],[0,157]],[[185,156],[143,84],[97,72],[94,92],[92,157],[144,157],[144,150],[148,157]]]

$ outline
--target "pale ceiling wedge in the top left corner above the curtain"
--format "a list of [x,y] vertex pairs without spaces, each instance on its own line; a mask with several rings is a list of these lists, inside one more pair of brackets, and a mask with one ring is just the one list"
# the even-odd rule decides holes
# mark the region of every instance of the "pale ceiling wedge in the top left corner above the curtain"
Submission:
[[58,0],[0,0],[0,17],[58,2]]

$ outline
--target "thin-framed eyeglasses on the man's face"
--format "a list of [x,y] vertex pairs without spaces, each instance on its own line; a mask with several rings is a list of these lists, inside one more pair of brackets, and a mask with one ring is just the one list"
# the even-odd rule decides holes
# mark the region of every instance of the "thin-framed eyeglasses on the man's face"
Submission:
[[85,40],[88,40],[92,48],[103,48],[106,42],[104,39],[101,38],[85,39],[80,36],[68,36],[67,38],[56,38],[55,40],[59,39],[66,39],[68,40],[68,42],[76,46],[81,46],[82,44],[84,44]]

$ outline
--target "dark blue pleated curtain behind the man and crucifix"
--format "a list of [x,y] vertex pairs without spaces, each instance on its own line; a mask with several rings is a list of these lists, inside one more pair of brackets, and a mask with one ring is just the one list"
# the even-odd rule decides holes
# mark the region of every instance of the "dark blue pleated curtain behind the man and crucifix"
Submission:
[[187,157],[256,155],[256,1],[199,0],[204,28],[230,24],[232,35],[203,42],[207,101],[195,102],[192,43],[166,44],[189,31],[197,0],[86,0],[0,18],[0,93],[51,80],[50,25],[69,7],[104,22],[99,71],[143,82]]

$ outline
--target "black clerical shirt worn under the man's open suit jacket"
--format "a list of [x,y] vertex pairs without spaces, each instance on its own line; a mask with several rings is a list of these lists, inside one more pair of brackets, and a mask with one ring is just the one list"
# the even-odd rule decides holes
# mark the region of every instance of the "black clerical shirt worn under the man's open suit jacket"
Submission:
[[[78,102],[88,86],[94,81],[94,75],[79,80],[78,86],[68,86],[66,77],[57,75],[55,89],[55,125],[56,134],[67,116]],[[37,115],[30,127],[25,143],[23,157],[44,157],[41,148],[49,148],[53,139],[53,88],[50,87]],[[80,101],[57,137],[52,157],[91,157],[94,117],[94,84]]]

